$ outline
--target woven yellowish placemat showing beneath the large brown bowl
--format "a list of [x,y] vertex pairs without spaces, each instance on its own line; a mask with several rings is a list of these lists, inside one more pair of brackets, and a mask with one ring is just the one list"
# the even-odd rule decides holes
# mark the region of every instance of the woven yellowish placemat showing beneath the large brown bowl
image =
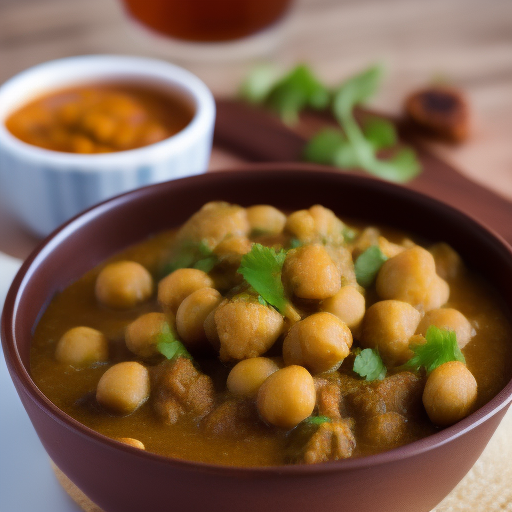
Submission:
[[[104,512],[53,462],[52,468],[82,510]],[[512,512],[512,408],[470,472],[432,512]]]

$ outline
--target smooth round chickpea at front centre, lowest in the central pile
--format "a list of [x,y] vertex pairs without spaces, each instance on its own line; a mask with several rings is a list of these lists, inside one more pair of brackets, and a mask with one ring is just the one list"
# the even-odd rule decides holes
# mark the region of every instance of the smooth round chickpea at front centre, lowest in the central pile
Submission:
[[274,372],[258,391],[257,407],[271,425],[292,429],[311,415],[316,391],[313,377],[302,366],[287,366]]

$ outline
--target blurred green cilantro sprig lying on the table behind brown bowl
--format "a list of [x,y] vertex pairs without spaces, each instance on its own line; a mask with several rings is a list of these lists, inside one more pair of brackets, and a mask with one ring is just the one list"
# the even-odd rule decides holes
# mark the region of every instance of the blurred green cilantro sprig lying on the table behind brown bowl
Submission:
[[[393,123],[371,117],[361,127],[354,117],[354,108],[376,93],[381,77],[382,68],[373,66],[329,91],[303,64],[281,78],[273,68],[264,66],[248,76],[241,94],[247,101],[268,105],[287,124],[295,124],[304,108],[326,109],[330,105],[340,129],[317,133],[305,148],[305,159],[342,169],[357,167],[389,181],[405,182],[420,172],[420,164],[411,148],[396,148]],[[391,152],[389,158],[378,158],[383,149]]]

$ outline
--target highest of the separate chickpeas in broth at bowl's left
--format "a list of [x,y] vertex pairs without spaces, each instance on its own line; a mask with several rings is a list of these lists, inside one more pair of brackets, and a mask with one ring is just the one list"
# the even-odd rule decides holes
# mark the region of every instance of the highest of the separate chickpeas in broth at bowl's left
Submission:
[[153,293],[151,274],[134,261],[107,265],[96,278],[96,298],[115,309],[130,309],[146,301]]

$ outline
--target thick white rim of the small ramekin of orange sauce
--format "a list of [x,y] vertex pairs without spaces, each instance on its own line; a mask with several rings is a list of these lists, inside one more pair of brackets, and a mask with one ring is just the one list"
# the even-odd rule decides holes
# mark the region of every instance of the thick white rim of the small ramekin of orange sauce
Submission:
[[[78,77],[77,77],[78,74]],[[39,85],[43,78],[46,85]],[[147,146],[114,151],[111,153],[79,154],[54,151],[24,142],[15,137],[6,127],[5,119],[16,109],[29,101],[67,87],[87,83],[116,82],[119,80],[133,83],[147,83],[154,87],[177,92],[188,98],[194,108],[189,123],[176,134]],[[29,92],[21,94],[12,107],[12,96],[16,99],[17,89],[22,87]],[[11,101],[9,101],[11,100]],[[14,75],[0,86],[0,149],[15,153],[19,157],[52,166],[60,172],[79,170],[91,173],[104,173],[107,167],[133,165],[134,161],[151,163],[158,161],[169,152],[180,152],[188,147],[213,125],[215,118],[215,100],[206,84],[190,71],[160,59],[133,57],[127,55],[80,55],[43,62]]]

